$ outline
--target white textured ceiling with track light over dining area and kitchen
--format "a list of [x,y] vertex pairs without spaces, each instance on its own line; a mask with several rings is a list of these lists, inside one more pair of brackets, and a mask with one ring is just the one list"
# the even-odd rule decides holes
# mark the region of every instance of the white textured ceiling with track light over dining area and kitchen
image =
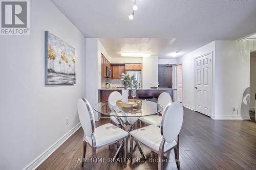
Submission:
[[236,40],[256,32],[256,1],[139,0],[133,20],[128,18],[131,0],[52,2],[84,36],[100,38],[115,55],[129,44],[136,51],[145,47],[159,58],[172,59],[169,54],[178,49],[182,56],[214,40]]

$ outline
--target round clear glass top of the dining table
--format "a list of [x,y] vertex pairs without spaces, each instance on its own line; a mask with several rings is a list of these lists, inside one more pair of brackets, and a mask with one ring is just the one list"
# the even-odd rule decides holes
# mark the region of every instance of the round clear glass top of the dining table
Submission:
[[117,117],[141,117],[160,113],[163,107],[155,102],[141,101],[139,107],[122,108],[116,105],[116,101],[100,102],[93,109],[101,114]]

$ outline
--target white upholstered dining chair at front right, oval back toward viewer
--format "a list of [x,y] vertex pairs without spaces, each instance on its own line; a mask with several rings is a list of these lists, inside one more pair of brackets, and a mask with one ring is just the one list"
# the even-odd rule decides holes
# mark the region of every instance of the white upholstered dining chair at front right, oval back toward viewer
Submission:
[[[163,169],[163,154],[174,149],[177,168],[179,161],[179,133],[183,122],[183,107],[176,101],[169,103],[163,113],[160,127],[146,126],[130,132],[130,151],[133,151],[133,140],[137,140],[158,154],[158,170]],[[130,153],[133,160],[133,153]],[[132,163],[132,162],[131,162]]]

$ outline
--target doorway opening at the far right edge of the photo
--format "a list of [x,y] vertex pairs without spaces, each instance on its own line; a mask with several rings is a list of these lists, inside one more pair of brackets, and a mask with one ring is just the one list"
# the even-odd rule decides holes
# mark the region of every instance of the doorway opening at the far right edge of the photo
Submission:
[[[250,120],[255,122],[255,101],[256,101],[256,50],[250,51]],[[247,101],[248,102],[248,101]]]

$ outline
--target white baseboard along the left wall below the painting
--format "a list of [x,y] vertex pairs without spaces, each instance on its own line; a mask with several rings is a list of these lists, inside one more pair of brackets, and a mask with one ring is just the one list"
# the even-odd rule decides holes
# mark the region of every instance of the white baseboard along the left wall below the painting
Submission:
[[62,143],[64,143],[71,135],[73,135],[79,128],[81,124],[77,124],[74,128],[72,128],[68,133],[62,136],[59,140],[57,140],[50,148],[48,148],[45,152],[39,155],[35,160],[33,160],[29,165],[27,165],[24,170],[30,170],[37,168],[42,162],[44,162],[55,150],[57,150]]

